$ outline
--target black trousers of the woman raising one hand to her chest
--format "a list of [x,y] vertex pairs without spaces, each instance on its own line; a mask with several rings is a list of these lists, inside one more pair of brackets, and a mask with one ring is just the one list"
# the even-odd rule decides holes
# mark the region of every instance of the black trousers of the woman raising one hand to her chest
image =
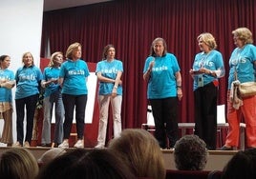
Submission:
[[173,148],[178,140],[177,97],[150,99],[150,104],[155,121],[155,137],[159,141],[160,148],[167,147],[166,135],[169,147]]

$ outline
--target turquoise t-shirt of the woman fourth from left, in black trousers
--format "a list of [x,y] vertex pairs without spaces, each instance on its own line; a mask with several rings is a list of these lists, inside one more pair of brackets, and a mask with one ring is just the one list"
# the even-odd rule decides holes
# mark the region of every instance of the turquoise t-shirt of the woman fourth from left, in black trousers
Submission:
[[68,59],[61,65],[59,77],[64,78],[62,93],[71,95],[87,94],[86,77],[90,75],[85,61]]

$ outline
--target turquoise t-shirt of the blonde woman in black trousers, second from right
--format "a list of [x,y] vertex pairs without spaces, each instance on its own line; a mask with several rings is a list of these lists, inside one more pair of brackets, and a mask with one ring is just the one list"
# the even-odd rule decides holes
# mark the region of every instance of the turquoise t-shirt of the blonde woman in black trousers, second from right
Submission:
[[[199,70],[201,68],[205,68],[207,70],[224,70],[224,59],[223,55],[218,50],[211,50],[208,54],[204,52],[200,52],[196,54],[193,70]],[[203,75],[203,86],[211,83],[214,80],[217,80],[217,77],[208,74],[200,74]],[[194,76],[194,84],[193,89],[198,89],[198,78],[200,75]]]

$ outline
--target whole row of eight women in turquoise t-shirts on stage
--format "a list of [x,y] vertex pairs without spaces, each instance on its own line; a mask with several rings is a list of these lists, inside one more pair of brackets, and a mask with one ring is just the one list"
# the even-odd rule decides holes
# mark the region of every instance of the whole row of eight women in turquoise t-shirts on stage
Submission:
[[[233,100],[233,82],[255,81],[256,47],[252,44],[252,33],[247,28],[232,31],[236,49],[229,59],[227,89],[227,122],[229,131],[222,149],[237,149],[239,123],[245,118],[247,148],[256,148],[256,105],[255,96]],[[216,149],[217,98],[219,78],[224,77],[224,60],[218,50],[214,36],[203,32],[197,38],[201,52],[195,55],[193,67],[189,70],[193,78],[195,134],[206,144],[207,149]],[[77,141],[75,148],[84,148],[84,118],[87,102],[87,78],[89,70],[81,59],[81,44],[74,43],[63,53],[56,51],[43,73],[34,66],[31,52],[22,56],[23,66],[15,75],[8,70],[11,57],[0,56],[0,114],[5,125],[1,141],[14,147],[30,147],[32,141],[33,117],[40,88],[44,89],[44,121],[42,146],[69,148],[69,137],[75,110]],[[99,82],[99,125],[96,148],[105,148],[109,105],[112,105],[114,137],[121,132],[122,103],[122,62],[116,59],[116,49],[107,45],[103,49],[102,60],[96,64]],[[178,135],[178,100],[182,98],[181,69],[176,56],[167,51],[163,38],[156,38],[151,44],[149,56],[145,60],[143,78],[147,82],[147,98],[152,106],[155,120],[155,137],[161,149],[173,148]],[[15,107],[17,142],[12,139],[12,96],[16,85]],[[243,103],[243,105],[242,105]],[[55,113],[53,114],[53,107]],[[24,117],[27,117],[24,139]],[[51,121],[55,116],[53,143]],[[64,122],[64,123],[63,123]],[[166,141],[166,136],[168,141]]]

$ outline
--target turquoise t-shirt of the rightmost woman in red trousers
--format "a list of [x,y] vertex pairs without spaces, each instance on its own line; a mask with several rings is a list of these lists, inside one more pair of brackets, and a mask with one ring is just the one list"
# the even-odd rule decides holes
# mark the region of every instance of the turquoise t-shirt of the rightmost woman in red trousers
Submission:
[[255,69],[253,63],[256,60],[256,47],[252,44],[247,44],[243,49],[236,48],[232,51],[229,59],[229,76],[228,89],[231,88],[231,83],[235,81],[235,70],[237,77],[241,83],[255,81]]

